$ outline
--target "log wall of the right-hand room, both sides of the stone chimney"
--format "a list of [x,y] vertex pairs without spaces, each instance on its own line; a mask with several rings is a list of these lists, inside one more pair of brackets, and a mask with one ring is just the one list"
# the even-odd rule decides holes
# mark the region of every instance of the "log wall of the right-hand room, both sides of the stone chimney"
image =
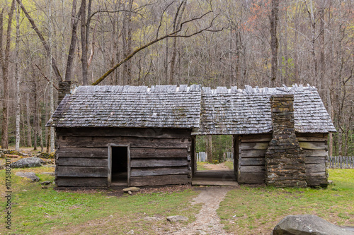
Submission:
[[[296,133],[304,150],[307,186],[326,186],[326,133]],[[235,135],[235,171],[239,183],[264,183],[265,152],[272,134]]]

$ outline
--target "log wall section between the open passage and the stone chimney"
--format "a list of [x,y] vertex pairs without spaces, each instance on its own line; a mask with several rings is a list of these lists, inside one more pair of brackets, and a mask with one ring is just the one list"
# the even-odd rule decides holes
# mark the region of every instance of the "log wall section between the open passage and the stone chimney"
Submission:
[[[265,151],[272,134],[238,135],[237,181],[239,183],[264,183]],[[236,150],[236,147],[235,147]]]

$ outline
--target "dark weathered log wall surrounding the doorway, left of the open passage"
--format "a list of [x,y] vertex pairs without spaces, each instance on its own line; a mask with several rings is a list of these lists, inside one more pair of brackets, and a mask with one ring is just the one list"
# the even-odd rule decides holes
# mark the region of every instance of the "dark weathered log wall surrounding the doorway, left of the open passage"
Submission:
[[57,186],[107,186],[108,144],[130,144],[130,185],[190,183],[190,131],[57,128]]

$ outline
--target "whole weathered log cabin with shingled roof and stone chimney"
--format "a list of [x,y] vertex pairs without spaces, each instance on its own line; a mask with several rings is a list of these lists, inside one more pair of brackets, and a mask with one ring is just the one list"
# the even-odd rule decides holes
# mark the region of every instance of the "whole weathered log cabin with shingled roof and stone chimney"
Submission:
[[336,129],[309,85],[79,86],[59,97],[47,122],[58,187],[190,184],[198,135],[233,135],[238,183],[328,184],[327,135]]

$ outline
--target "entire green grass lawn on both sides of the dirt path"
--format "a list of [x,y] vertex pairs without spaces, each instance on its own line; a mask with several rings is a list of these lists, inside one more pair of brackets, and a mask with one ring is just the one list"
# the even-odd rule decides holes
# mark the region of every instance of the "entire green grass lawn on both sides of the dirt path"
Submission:
[[[193,188],[151,188],[122,195],[120,191],[55,191],[15,176],[16,171],[42,174],[53,167],[11,170],[11,234],[156,234],[176,230],[195,220],[201,205],[190,205],[198,195]],[[354,169],[329,169],[334,185],[329,188],[267,188],[241,186],[227,193],[217,210],[224,228],[233,234],[270,234],[286,215],[314,214],[339,225],[354,225]],[[5,170],[0,171],[4,182]],[[0,185],[1,212],[5,216],[6,188]],[[169,215],[184,215],[188,222],[166,222]],[[160,217],[147,221],[144,217]],[[8,234],[1,223],[0,234]]]

